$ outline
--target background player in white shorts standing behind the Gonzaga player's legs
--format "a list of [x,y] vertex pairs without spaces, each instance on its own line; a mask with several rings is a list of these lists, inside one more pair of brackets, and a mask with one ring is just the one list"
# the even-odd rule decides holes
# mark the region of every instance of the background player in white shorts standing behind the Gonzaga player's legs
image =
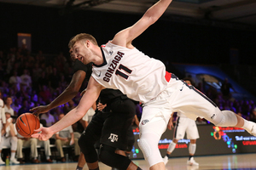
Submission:
[[[183,80],[188,85],[191,85],[191,81],[189,80],[189,78],[184,78]],[[172,117],[173,117],[173,114],[172,114]],[[167,125],[167,127],[170,130],[172,130],[172,127],[173,127],[172,117],[170,118]],[[174,128],[173,139],[172,139],[172,142],[169,144],[169,147],[166,151],[166,156],[163,159],[165,164],[168,162],[168,158],[172,154],[172,151],[175,150],[178,140],[183,139],[185,136],[185,133],[187,133],[187,139],[190,140],[189,160],[187,161],[187,164],[189,166],[199,166],[199,163],[197,163],[193,157],[195,155],[196,139],[199,139],[198,129],[196,127],[195,121],[192,119],[189,119],[182,112],[177,112],[177,122]]]

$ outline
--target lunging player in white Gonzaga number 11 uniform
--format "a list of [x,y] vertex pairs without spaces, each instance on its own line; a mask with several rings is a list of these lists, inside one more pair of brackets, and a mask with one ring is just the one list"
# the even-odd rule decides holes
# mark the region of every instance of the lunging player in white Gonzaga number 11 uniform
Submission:
[[160,60],[149,58],[131,44],[160,18],[171,2],[160,0],[155,3],[137,23],[119,31],[102,47],[89,34],[82,33],[73,37],[68,44],[73,50],[73,58],[79,59],[84,65],[94,63],[87,90],[79,105],[61,121],[51,127],[39,128],[36,132],[42,133],[32,134],[32,137],[46,140],[77,122],[96,102],[103,88],[119,89],[130,99],[144,104],[138,144],[150,170],[166,169],[158,142],[161,134],[166,131],[172,112],[181,111],[194,120],[201,116],[220,127],[242,127],[256,135],[255,123],[247,122],[232,111],[220,111],[217,105],[194,87],[166,72]]

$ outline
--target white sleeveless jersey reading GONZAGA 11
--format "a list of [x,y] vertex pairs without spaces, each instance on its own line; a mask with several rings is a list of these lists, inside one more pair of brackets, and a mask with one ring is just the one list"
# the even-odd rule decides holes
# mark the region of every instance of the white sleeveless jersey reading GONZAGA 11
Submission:
[[102,45],[102,65],[92,66],[92,77],[106,88],[119,89],[129,98],[148,102],[166,89],[166,66],[137,48],[108,42]]

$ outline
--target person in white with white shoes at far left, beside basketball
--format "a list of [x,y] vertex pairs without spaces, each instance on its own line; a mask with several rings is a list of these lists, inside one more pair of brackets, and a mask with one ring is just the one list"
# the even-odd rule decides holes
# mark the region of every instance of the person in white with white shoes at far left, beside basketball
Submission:
[[15,159],[15,153],[17,150],[17,131],[13,124],[13,120],[9,112],[5,112],[6,117],[6,128],[5,134],[2,137],[2,141],[0,142],[0,165],[5,164],[5,162],[1,158],[2,148],[3,146],[10,147],[11,156],[10,156],[10,163],[20,164],[20,161]]

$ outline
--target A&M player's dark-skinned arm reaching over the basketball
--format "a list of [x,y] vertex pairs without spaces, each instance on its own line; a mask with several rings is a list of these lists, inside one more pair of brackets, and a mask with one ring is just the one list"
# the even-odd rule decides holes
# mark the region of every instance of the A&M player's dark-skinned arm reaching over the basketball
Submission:
[[34,115],[38,116],[40,113],[45,113],[59,105],[67,103],[79,93],[79,89],[84,82],[85,76],[86,73],[84,71],[76,71],[73,74],[68,87],[55,100],[53,100],[49,105],[39,105],[38,107],[32,108],[30,111],[32,111]]

